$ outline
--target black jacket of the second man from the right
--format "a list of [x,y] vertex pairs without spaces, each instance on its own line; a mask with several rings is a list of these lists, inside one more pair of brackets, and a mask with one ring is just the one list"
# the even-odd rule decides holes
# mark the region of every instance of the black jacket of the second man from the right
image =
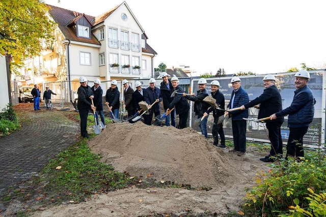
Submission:
[[[269,117],[272,114],[282,111],[282,97],[277,87],[272,85],[265,88],[262,95],[250,101],[249,103],[244,104],[244,107],[250,108],[258,104],[260,104],[258,119]],[[284,117],[274,120],[266,120],[266,122],[268,121],[284,122]]]

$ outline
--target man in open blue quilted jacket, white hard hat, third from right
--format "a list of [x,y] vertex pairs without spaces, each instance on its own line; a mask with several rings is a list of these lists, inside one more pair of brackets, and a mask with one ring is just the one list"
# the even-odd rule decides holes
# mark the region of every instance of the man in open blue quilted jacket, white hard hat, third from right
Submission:
[[[227,108],[237,108],[244,104],[249,103],[249,96],[246,90],[241,87],[241,80],[238,77],[231,79],[233,91],[231,94],[231,101]],[[246,154],[246,130],[247,121],[242,118],[248,118],[249,112],[246,110],[236,110],[227,112],[229,117],[232,117],[232,133],[233,133],[233,144],[234,148],[229,152],[239,152],[238,156],[242,157]]]

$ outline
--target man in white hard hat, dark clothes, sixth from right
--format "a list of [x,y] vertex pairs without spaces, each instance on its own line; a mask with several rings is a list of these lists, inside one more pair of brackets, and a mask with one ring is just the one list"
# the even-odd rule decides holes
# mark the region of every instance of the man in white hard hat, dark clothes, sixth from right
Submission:
[[[173,87],[172,92],[175,90],[177,90],[177,92],[184,92],[182,87],[179,85],[179,79],[177,77],[172,77],[171,83]],[[179,128],[186,128],[190,108],[188,101],[182,95],[176,94],[172,98],[172,102],[170,103],[168,109],[170,110],[173,107],[175,107],[176,114],[179,115]]]

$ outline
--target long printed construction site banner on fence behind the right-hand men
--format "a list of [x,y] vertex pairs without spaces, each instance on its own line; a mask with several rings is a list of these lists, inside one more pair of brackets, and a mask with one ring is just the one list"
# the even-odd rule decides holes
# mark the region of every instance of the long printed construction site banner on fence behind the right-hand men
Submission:
[[[309,71],[310,73],[310,81],[308,83],[309,88],[313,92],[313,96],[316,100],[315,114],[313,122],[311,123],[307,134],[304,137],[304,144],[310,146],[318,146],[318,144],[322,145],[325,142],[325,88],[326,88],[326,78],[324,76],[325,70],[314,70]],[[283,109],[289,107],[293,100],[294,96],[294,74],[295,73],[277,73],[273,74],[276,77],[276,86],[280,91],[282,96],[282,106]],[[251,75],[251,76],[240,76],[241,79],[241,87],[244,88],[249,95],[249,100],[254,100],[259,97],[263,90],[263,77],[265,75]],[[230,84],[230,80],[232,77],[218,77],[218,78],[209,78],[207,79],[206,89],[210,94],[210,82],[212,80],[218,80],[221,84],[220,91],[225,97],[225,106],[230,102],[232,86]],[[199,79],[194,79],[192,81],[192,89],[195,94],[198,91],[198,82]],[[193,126],[195,117],[195,113],[193,112],[193,102],[191,103],[192,113],[191,113],[191,124]],[[259,110],[256,108],[249,109],[249,118],[257,118]],[[208,133],[211,134],[213,126],[213,117],[212,114],[209,115],[208,118]],[[229,138],[232,137],[232,126],[231,119],[226,118],[223,123],[223,129],[225,135]],[[199,129],[195,129],[200,131]],[[287,116],[285,117],[285,121],[281,128],[281,134],[283,142],[286,143],[289,136],[289,129],[287,127]],[[254,121],[247,121],[247,139],[253,141],[261,141],[261,142],[269,142],[267,137],[267,129],[265,128],[264,123],[257,123]]]

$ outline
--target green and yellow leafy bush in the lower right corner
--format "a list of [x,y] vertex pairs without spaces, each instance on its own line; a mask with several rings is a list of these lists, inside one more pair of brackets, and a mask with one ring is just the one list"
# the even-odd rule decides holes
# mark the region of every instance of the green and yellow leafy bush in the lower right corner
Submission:
[[306,209],[309,207],[307,189],[314,189],[316,194],[326,191],[325,171],[324,156],[316,152],[306,153],[301,162],[289,159],[271,164],[268,172],[256,175],[257,185],[247,189],[243,208],[250,216],[276,216],[288,213],[294,201],[300,201],[297,205]]

